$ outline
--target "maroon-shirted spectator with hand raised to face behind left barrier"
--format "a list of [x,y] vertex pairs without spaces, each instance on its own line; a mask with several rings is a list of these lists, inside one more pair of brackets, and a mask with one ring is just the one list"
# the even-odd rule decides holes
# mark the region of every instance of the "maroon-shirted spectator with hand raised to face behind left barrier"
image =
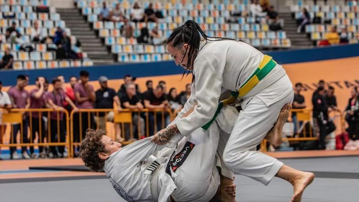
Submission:
[[[48,81],[44,77],[37,77],[36,88],[30,91],[30,109],[42,109],[47,108],[46,100],[47,93],[46,88],[48,87]],[[29,123],[31,124],[31,141],[30,143],[35,142],[36,133],[38,135],[38,143],[45,142],[45,120],[43,119],[44,113],[39,113],[37,111],[30,113]],[[41,134],[40,134],[41,133]],[[40,138],[41,136],[41,138]],[[47,155],[43,153],[43,146],[39,146],[39,153],[41,158],[46,158]],[[30,146],[30,154],[32,159],[36,159],[38,156],[34,153],[34,147]]]

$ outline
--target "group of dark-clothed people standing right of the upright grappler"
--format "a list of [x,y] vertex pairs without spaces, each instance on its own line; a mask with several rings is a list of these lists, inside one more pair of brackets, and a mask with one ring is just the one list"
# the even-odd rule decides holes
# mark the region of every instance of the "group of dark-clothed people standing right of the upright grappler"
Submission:
[[[293,109],[304,109],[307,107],[307,103],[304,99],[304,96],[301,94],[303,89],[302,83],[296,83],[294,88],[294,100],[293,100]],[[328,134],[333,132],[336,129],[333,120],[328,116],[328,113],[331,111],[341,111],[337,107],[337,101],[335,96],[335,89],[333,86],[328,86],[325,84],[325,81],[320,80],[318,82],[318,88],[314,91],[312,95],[312,105],[313,105],[313,127],[314,127],[314,137],[318,137],[319,141],[315,141],[315,144],[311,145],[312,149],[326,149],[325,138]],[[344,112],[346,113],[345,120],[348,123],[348,128],[346,129],[350,139],[353,141],[358,140],[359,134],[359,93],[358,87],[353,87],[351,89],[351,95],[348,101],[348,105],[345,108]],[[302,121],[298,121],[297,114],[292,113],[292,120],[294,123],[294,132],[303,133],[299,128],[303,125]],[[303,130],[303,128],[301,128]]]

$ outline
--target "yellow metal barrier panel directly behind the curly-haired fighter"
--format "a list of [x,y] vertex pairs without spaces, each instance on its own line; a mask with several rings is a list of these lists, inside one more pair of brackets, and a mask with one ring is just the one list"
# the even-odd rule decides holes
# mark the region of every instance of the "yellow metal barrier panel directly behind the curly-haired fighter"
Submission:
[[171,110],[161,109],[73,110],[70,113],[71,156],[76,156],[88,128],[105,130],[107,136],[126,145],[137,139],[152,136],[158,130],[165,128],[173,119]]

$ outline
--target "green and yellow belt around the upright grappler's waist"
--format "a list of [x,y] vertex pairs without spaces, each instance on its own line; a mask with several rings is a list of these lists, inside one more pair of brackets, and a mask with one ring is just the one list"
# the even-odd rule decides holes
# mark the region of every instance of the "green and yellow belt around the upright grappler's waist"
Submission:
[[207,130],[213,121],[218,116],[224,105],[233,104],[236,102],[238,97],[245,96],[248,92],[250,92],[269,72],[277,65],[277,63],[272,59],[269,55],[264,55],[264,58],[261,61],[261,64],[255,70],[255,72],[247,79],[246,82],[238,89],[238,91],[232,91],[231,96],[228,99],[220,101],[214,114],[213,118],[202,126],[203,129]]

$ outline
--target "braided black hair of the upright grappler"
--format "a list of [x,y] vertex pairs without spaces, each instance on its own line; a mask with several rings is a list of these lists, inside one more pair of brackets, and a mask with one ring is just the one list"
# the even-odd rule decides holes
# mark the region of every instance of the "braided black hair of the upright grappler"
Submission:
[[210,37],[204,33],[201,27],[194,20],[187,20],[185,24],[174,29],[172,34],[168,37],[167,44],[172,42],[172,46],[177,47],[178,49],[181,49],[184,43],[187,43],[190,46],[189,50],[187,48],[183,54],[186,55],[188,51],[188,61],[187,61],[188,71],[190,70],[189,68],[192,62],[195,61],[196,56],[198,54],[200,48],[201,36],[204,38],[204,40],[206,40],[206,43],[207,41],[222,41],[222,40],[242,41],[233,38]]

